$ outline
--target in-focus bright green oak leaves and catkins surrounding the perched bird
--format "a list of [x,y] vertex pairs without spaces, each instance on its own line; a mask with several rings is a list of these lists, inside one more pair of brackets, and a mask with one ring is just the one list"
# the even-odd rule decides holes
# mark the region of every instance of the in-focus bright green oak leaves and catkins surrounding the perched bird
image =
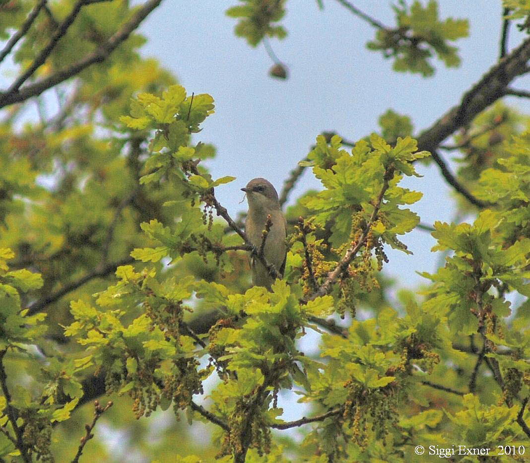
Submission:
[[[166,261],[178,267],[185,256],[198,253],[222,262],[226,248],[241,243],[237,234],[226,235],[216,224],[210,226],[200,209],[204,203],[221,211],[214,188],[232,180],[211,180],[206,171],[199,170],[200,145],[188,146],[189,134],[198,131],[212,108],[208,95],[187,99],[182,87],[173,86],[161,98],[138,95],[131,116],[121,119],[131,129],[153,130],[152,153],[140,183],[171,182],[182,198],[180,221],[143,224],[157,246],[133,251],[138,260]],[[419,200],[421,193],[398,184],[403,175],[418,176],[412,162],[428,153],[417,152],[416,141],[410,137],[398,138],[392,147],[373,135],[369,142],[359,141],[351,153],[341,146],[340,137],[326,143],[320,136],[306,163],[313,167],[324,190],[305,198],[303,205],[312,211],[310,223],[316,228],[332,224],[329,236],[319,239],[315,226],[301,224],[303,239],[294,239],[297,244],[288,253],[286,278],[277,281],[271,292],[254,287],[240,293],[230,284],[192,277],[177,280],[153,266],[140,272],[126,266],[117,272],[120,282],[99,293],[98,308],[81,301],[72,305],[75,322],[67,334],[89,346],[90,356],[84,361],[105,371],[109,391],[128,393],[135,399],[137,416],[173,403],[175,411],[186,409],[191,420],[197,410],[193,396],[201,394],[202,381],[217,372],[223,382],[211,397],[215,420],[224,423],[219,457],[242,461],[249,449],[255,448],[260,455],[270,452],[274,448],[270,428],[285,424],[278,418],[282,414],[278,393],[293,387],[303,391],[304,400],[335,408],[340,416],[333,426],[335,431],[342,426],[342,431],[329,447],[319,447],[320,452],[347,455],[341,437],[348,442],[346,447],[357,449],[351,455],[371,452],[368,446],[383,445],[385,435],[399,420],[396,410],[407,397],[414,376],[411,362],[427,373],[439,363],[436,349],[444,345],[437,334],[441,318],[416,308],[413,316],[400,319],[389,309],[385,312],[388,331],[381,333],[375,320],[370,322],[373,346],[360,349],[369,344],[366,339],[361,343],[355,334],[368,330],[361,322],[346,340],[324,335],[323,342],[329,346],[322,353],[325,363],[299,351],[297,339],[305,334],[304,326],[317,330],[310,319],[337,310],[335,292],[313,296],[329,284],[330,273],[321,271],[319,265],[331,270],[350,253],[339,279],[345,284],[354,282],[355,291],[342,291],[344,299],[354,301],[370,291],[363,281],[367,275],[375,278],[381,270],[386,260],[384,244],[407,252],[398,236],[413,229],[419,218],[401,206]],[[320,247],[329,247],[333,259],[322,262],[323,254],[317,252]],[[309,261],[313,281],[308,286]],[[199,299],[191,302],[194,293]],[[221,313],[208,339],[193,333],[184,320],[184,312],[197,305]],[[138,307],[142,308],[139,315],[131,318]],[[205,355],[209,364],[200,369]],[[337,368],[339,364],[348,368]],[[206,412],[201,415],[210,416]],[[324,428],[316,427],[307,448],[321,432],[330,432],[328,422],[323,422]],[[368,429],[369,423],[375,426],[373,431]]]

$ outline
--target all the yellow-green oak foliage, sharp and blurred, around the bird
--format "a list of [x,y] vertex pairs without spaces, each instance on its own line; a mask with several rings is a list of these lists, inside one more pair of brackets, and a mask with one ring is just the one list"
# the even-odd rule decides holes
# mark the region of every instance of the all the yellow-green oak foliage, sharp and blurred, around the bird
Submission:
[[[355,143],[315,134],[285,189],[306,168],[322,189],[287,209],[286,271],[268,292],[250,287],[252,247],[215,196],[235,177],[202,162],[214,97],[139,55],[133,31],[158,3],[0,3],[0,56],[21,76],[0,93],[0,456],[112,461],[105,438],[126,430],[122,445],[158,461],[437,461],[414,448],[453,443],[524,461],[497,446],[520,453],[530,438],[530,135],[499,99],[528,71],[528,40],[416,139],[393,111]],[[286,3],[227,14],[256,46],[286,37]],[[394,70],[460,64],[467,21],[435,1],[396,3],[392,27],[340,3],[376,28],[367,47]],[[504,6],[528,28],[529,5]],[[58,114],[18,124],[51,89]],[[438,151],[456,129],[452,176]],[[426,188],[415,166],[433,158],[473,219],[434,224],[443,265],[394,303],[385,250],[410,253],[401,237],[425,228],[408,206]],[[282,419],[284,390],[309,417]]]

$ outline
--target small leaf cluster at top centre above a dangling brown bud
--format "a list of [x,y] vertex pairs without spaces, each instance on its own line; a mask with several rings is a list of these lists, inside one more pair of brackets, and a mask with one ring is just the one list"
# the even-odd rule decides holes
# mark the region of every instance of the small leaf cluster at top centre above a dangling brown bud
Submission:
[[283,39],[287,32],[276,25],[285,15],[285,0],[240,0],[244,5],[226,10],[230,17],[239,19],[235,34],[244,37],[252,46],[257,46],[266,37]]

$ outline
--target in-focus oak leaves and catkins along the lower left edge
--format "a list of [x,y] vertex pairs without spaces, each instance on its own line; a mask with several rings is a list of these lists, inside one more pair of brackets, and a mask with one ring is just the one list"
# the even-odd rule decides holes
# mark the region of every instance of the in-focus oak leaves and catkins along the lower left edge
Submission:
[[[22,308],[21,295],[40,288],[43,281],[40,274],[26,269],[9,270],[7,261],[13,257],[10,249],[0,249],[0,456],[51,461],[51,427],[68,420],[81,398],[81,384],[73,375],[82,368],[71,361],[60,364],[56,359],[45,367],[32,354],[31,346],[46,332],[42,324],[46,314],[29,315],[28,309]],[[14,360],[37,366],[40,371],[39,387],[32,393],[8,382],[6,371],[11,370]]]

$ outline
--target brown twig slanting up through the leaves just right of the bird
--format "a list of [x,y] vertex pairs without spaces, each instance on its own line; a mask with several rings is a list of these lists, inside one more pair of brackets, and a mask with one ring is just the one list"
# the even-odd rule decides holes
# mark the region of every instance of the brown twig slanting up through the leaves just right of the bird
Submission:
[[355,259],[355,256],[359,252],[360,248],[365,244],[366,238],[368,237],[368,233],[370,232],[372,225],[374,225],[374,222],[377,219],[377,214],[379,213],[379,208],[381,208],[383,197],[385,195],[386,190],[388,189],[388,182],[390,182],[393,176],[394,169],[392,167],[387,168],[383,177],[383,186],[374,204],[372,216],[370,216],[370,219],[368,220],[363,232],[361,233],[357,241],[355,241],[354,244],[352,244],[352,246],[348,249],[348,251],[346,251],[345,255],[342,257],[337,266],[328,273],[328,277],[326,277],[325,281],[320,285],[319,289],[317,291],[314,291],[309,297],[304,298],[305,301],[310,301],[316,299],[319,296],[324,296],[328,294],[331,291],[333,283],[335,283],[335,281],[337,281],[340,275],[342,275],[346,271],[348,265],[350,265],[350,262]]

